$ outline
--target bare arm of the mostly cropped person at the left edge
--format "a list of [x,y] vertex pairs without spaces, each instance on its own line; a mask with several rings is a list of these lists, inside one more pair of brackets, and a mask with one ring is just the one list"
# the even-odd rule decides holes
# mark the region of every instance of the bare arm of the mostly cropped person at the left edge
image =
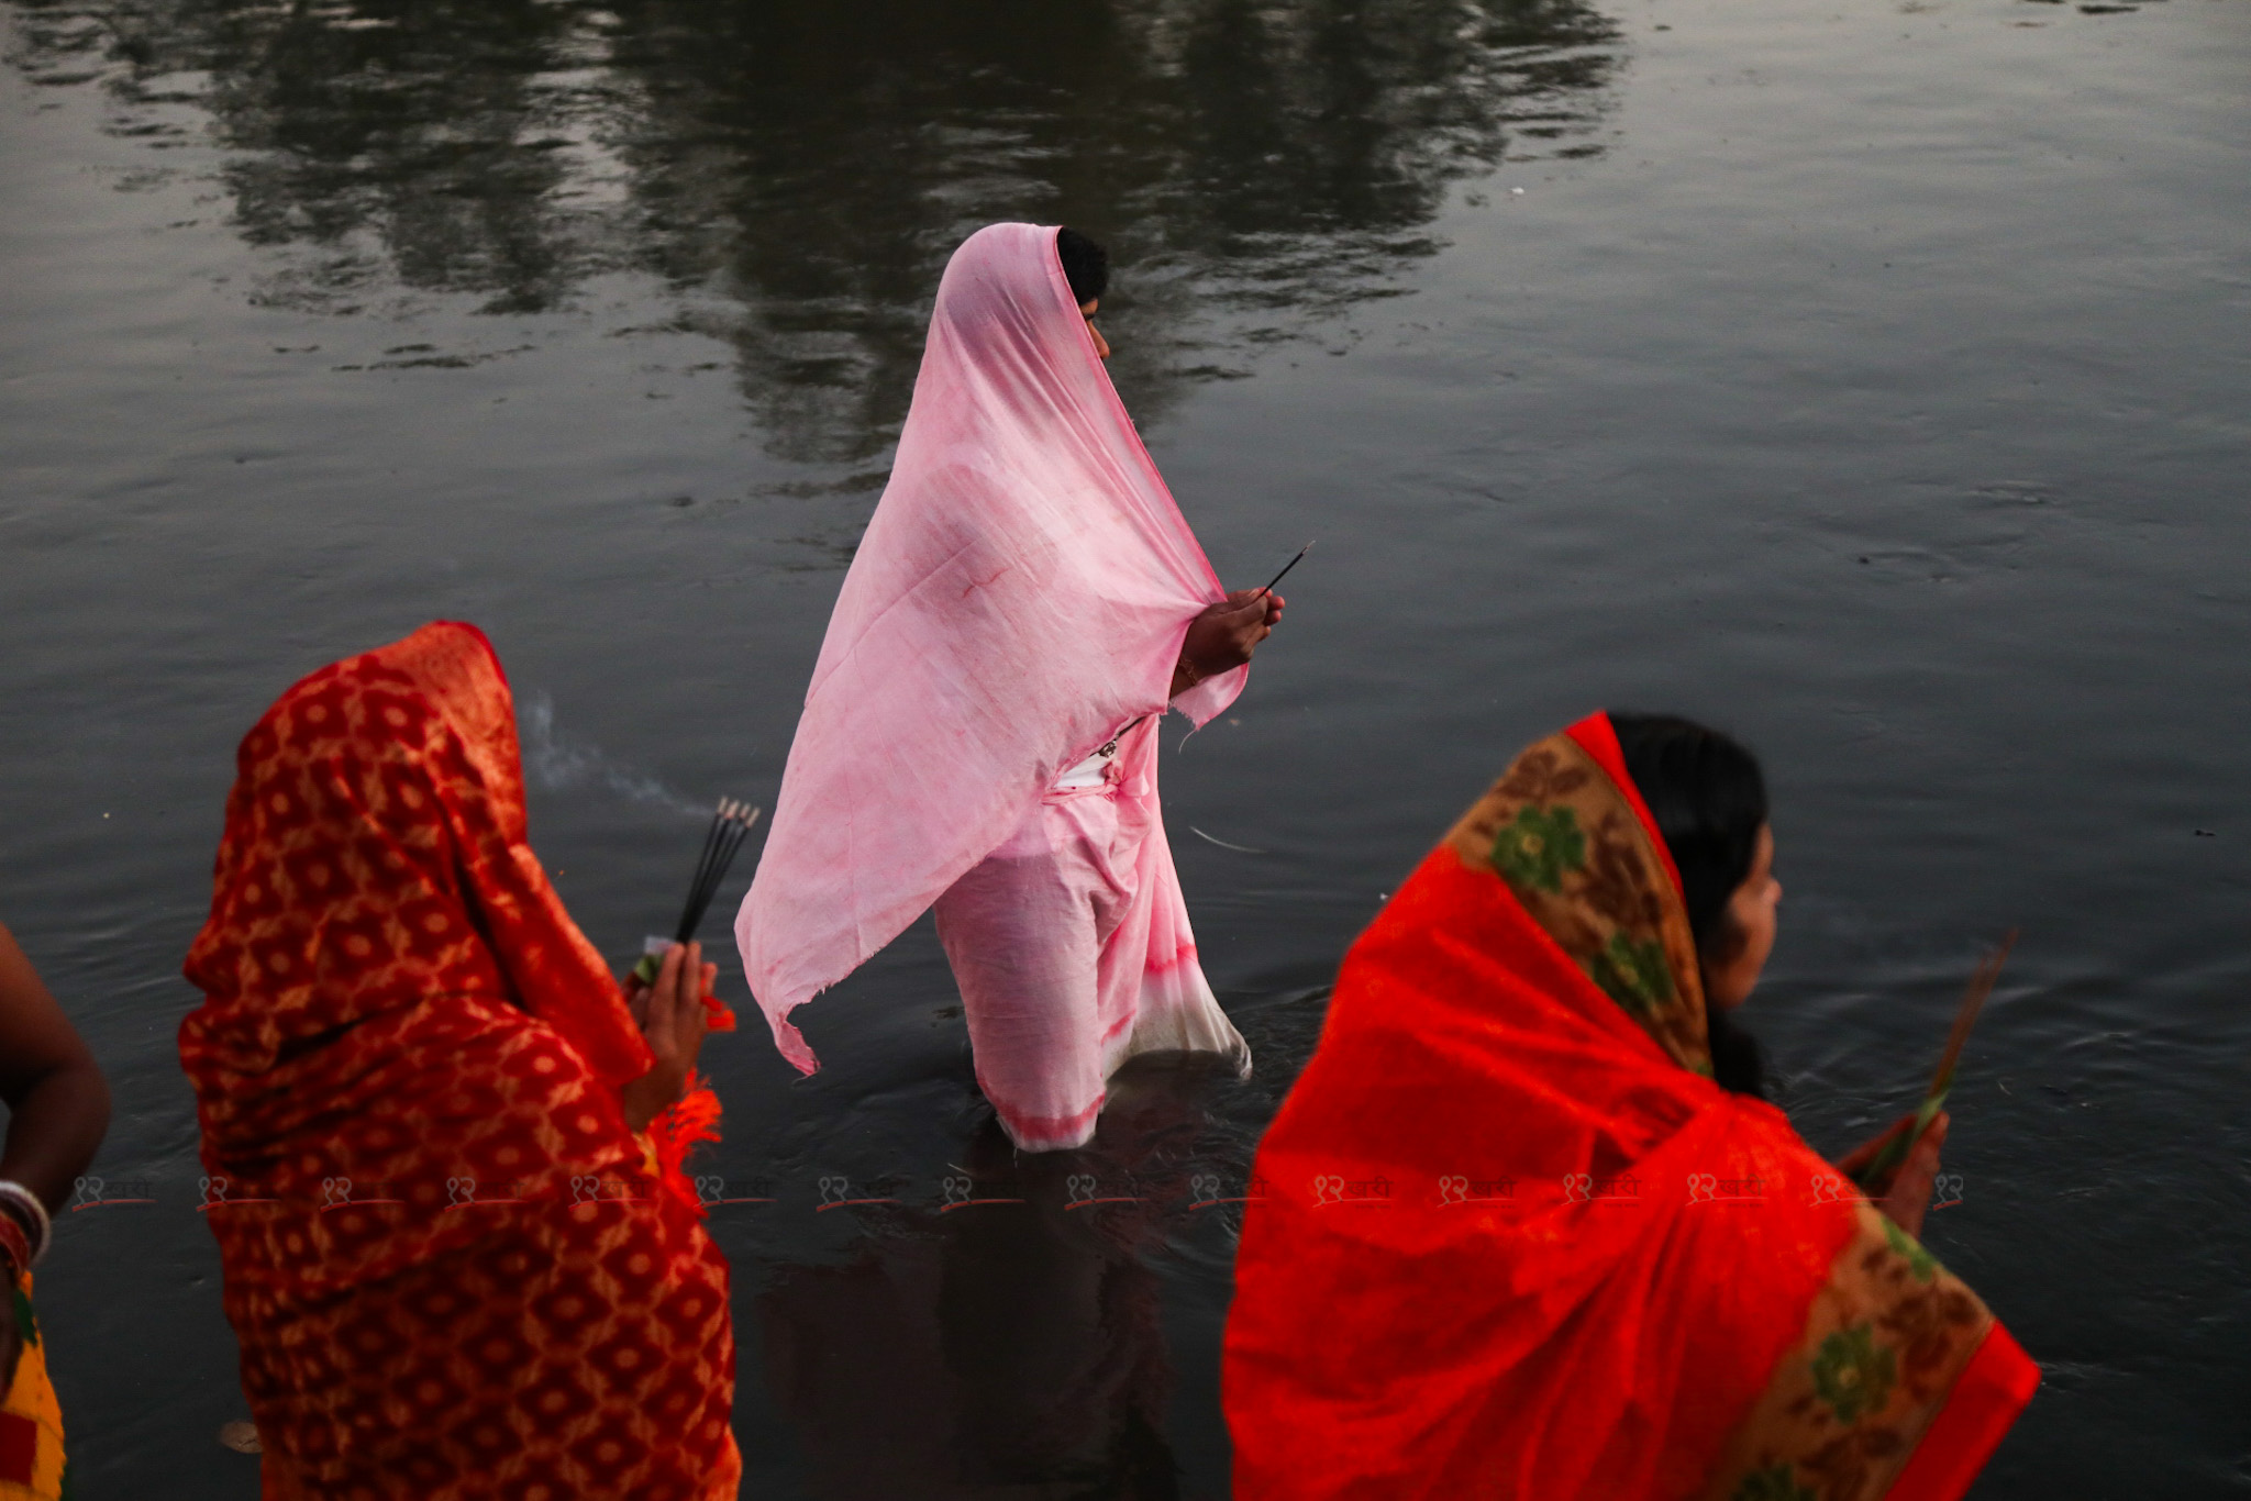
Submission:
[[50,1213],[61,1211],[110,1127],[110,1087],[7,927],[0,927],[0,1100],[9,1112],[0,1177],[36,1193]]

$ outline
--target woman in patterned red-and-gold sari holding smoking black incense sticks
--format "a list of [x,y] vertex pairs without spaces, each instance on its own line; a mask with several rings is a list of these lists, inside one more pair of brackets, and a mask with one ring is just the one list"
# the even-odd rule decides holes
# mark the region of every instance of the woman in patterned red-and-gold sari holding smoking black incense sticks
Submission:
[[473,626],[266,711],[180,1060],[270,1501],[732,1501],[727,1265],[680,1175],[711,972],[675,945],[628,999],[572,925]]

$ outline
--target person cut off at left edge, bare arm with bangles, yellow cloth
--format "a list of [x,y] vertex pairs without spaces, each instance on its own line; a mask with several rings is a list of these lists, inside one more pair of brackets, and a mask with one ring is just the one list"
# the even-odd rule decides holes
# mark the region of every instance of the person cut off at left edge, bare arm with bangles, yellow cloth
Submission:
[[47,995],[16,936],[0,927],[0,1499],[63,1494],[63,1411],[47,1379],[47,1346],[32,1314],[32,1262],[47,1251],[50,1215],[95,1161],[110,1127],[110,1087],[70,1017]]

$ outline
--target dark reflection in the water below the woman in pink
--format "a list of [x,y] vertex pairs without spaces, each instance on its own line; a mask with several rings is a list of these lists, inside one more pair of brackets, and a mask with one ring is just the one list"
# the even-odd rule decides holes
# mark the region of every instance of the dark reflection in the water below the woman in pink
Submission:
[[1184,1204],[1216,1082],[1128,1071],[1080,1152],[1017,1157],[988,1125],[957,1163],[954,1206],[896,1220],[849,1265],[774,1278],[759,1301],[768,1393],[815,1496],[1182,1494],[1148,1260],[1200,1213]]

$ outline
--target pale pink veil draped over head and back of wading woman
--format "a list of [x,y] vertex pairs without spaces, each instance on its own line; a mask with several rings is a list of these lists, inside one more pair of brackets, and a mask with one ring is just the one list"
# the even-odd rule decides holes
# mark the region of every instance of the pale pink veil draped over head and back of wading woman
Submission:
[[[966,239],[734,923],[783,1058],[813,1073],[790,1013],[905,932],[1065,767],[1166,707],[1189,621],[1220,599],[1056,230]],[[1202,725],[1247,671],[1173,707]]]

